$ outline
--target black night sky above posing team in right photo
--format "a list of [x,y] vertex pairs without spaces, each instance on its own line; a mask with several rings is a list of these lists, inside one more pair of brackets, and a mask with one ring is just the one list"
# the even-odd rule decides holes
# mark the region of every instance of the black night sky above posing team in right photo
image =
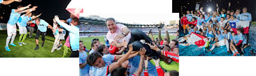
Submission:
[[[237,1],[239,1],[239,3],[237,3]],[[200,4],[200,7],[203,6],[204,11],[207,11],[208,7],[211,7],[212,10],[216,11],[216,3],[219,4],[220,9],[225,8],[225,10],[227,11],[228,2],[231,2],[230,10],[234,10],[236,12],[236,9],[239,8],[241,10],[240,13],[243,13],[242,8],[246,7],[247,12],[252,14],[252,20],[253,21],[256,20],[255,18],[256,1],[255,0],[173,0],[172,11],[173,13],[180,13],[181,15],[181,13],[186,13],[184,11],[195,10],[196,3]]]

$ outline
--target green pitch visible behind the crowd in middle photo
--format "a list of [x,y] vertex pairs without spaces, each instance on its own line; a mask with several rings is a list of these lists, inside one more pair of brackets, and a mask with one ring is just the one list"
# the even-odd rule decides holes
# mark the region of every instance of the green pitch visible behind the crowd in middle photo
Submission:
[[[154,36],[154,39],[156,39],[156,37],[158,38],[158,35],[157,35],[157,34],[154,34],[153,36]],[[162,35],[162,38],[163,38],[164,36],[165,36],[165,35]],[[80,38],[80,40],[84,42],[84,46],[86,47],[86,49],[90,50],[90,49],[91,49],[91,43],[92,43],[93,38],[99,38],[100,43],[104,43],[104,44],[105,44],[104,37],[105,37],[105,36],[86,37],[86,38]],[[150,38],[151,38],[151,37],[150,37]],[[170,40],[172,40],[173,38],[175,38],[175,35],[170,35]]]

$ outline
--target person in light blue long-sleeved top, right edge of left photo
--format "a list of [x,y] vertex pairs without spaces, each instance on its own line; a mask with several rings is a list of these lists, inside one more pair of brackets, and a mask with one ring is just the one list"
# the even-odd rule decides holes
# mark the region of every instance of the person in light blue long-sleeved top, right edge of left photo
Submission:
[[58,15],[54,17],[54,20],[56,20],[56,22],[58,22],[61,27],[69,31],[68,36],[70,37],[69,40],[72,49],[70,57],[79,57],[79,27],[77,26],[79,24],[79,19],[74,17],[70,22],[71,26],[68,26],[68,24],[65,24],[64,22],[61,22]]

